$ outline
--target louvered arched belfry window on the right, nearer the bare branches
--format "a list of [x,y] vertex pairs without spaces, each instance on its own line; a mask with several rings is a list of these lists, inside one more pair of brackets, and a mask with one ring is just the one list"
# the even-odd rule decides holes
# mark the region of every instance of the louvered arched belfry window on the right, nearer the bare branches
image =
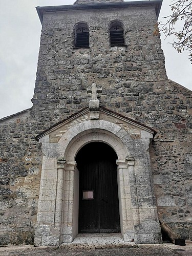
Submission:
[[110,28],[111,46],[124,46],[124,30],[115,25]]

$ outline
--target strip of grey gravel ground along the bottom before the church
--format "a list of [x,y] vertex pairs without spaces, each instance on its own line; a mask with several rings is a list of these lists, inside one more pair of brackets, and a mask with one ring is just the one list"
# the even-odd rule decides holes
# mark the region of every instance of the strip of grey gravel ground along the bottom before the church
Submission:
[[192,256],[192,244],[176,246],[163,245],[138,245],[135,248],[105,248],[105,249],[63,249],[51,247],[6,246],[0,247],[1,256]]

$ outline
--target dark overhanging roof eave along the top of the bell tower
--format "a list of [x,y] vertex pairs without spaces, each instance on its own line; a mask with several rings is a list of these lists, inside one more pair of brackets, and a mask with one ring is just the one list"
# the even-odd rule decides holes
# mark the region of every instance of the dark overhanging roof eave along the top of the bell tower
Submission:
[[154,6],[156,9],[157,18],[161,10],[163,0],[153,0],[153,1],[132,1],[123,3],[112,3],[112,4],[82,4],[82,5],[60,5],[60,6],[37,6],[36,10],[42,24],[42,18],[45,12],[55,12],[55,11],[69,11],[69,10],[85,10],[85,9],[108,9],[108,8],[128,8],[128,7],[150,7]]

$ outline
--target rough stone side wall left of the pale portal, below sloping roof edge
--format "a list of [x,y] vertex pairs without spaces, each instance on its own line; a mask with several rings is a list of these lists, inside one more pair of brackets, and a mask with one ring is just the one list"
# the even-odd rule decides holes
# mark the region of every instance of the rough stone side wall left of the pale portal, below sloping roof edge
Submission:
[[42,161],[30,112],[0,120],[0,245],[33,243]]

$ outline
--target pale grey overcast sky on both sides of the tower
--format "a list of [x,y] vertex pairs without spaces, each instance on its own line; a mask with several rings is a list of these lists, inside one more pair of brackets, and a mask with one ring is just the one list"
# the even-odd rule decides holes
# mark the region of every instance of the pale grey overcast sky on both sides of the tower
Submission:
[[[8,0],[0,2],[0,118],[32,106],[41,24],[36,6],[70,5],[75,0]],[[125,2],[128,2],[125,0]],[[159,20],[170,13],[164,0]],[[164,41],[167,76],[192,90],[192,65],[187,53],[178,54]]]

